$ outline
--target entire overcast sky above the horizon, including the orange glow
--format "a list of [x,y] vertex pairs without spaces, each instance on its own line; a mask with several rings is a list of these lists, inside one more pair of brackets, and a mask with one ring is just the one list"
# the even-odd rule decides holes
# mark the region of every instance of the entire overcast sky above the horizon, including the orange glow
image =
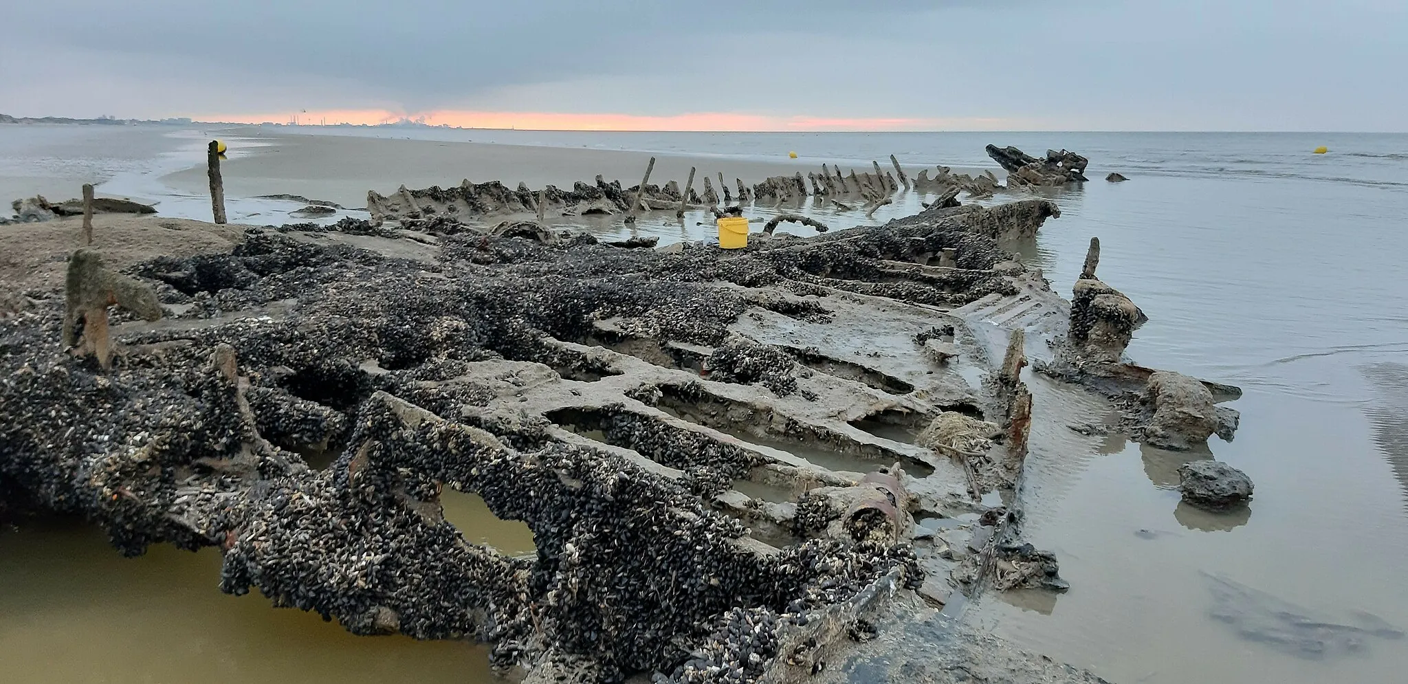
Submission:
[[13,115],[1408,131],[1408,0],[0,0],[0,15]]

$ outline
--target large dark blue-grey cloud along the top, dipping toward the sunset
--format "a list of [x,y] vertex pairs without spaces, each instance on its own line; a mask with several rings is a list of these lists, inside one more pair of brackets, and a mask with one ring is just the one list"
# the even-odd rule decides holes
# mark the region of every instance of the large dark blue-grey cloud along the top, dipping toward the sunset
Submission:
[[[70,46],[349,79],[418,110],[496,86],[707,66],[717,38],[755,31],[810,34],[822,49],[884,32],[929,7],[935,3],[48,0],[15,10],[25,25],[63,17],[51,39]],[[758,56],[767,63],[781,55]]]

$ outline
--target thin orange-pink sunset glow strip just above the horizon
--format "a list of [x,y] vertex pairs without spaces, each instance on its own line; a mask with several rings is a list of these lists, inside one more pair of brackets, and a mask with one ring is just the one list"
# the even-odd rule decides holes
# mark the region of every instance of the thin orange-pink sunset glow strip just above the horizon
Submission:
[[294,121],[304,125],[390,124],[411,120],[459,128],[521,128],[535,131],[935,131],[1005,129],[1018,122],[1005,118],[903,118],[903,117],[814,117],[701,111],[670,115],[556,111],[438,110],[415,114],[389,110],[317,110],[297,114],[207,114],[204,121],[262,124]]

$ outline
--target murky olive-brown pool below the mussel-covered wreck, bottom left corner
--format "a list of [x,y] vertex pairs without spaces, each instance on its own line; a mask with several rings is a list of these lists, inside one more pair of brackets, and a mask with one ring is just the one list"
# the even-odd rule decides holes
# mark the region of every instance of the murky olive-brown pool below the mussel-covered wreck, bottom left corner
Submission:
[[353,636],[317,614],[221,594],[220,553],[124,559],[94,528],[0,531],[3,681],[494,683],[487,647]]

